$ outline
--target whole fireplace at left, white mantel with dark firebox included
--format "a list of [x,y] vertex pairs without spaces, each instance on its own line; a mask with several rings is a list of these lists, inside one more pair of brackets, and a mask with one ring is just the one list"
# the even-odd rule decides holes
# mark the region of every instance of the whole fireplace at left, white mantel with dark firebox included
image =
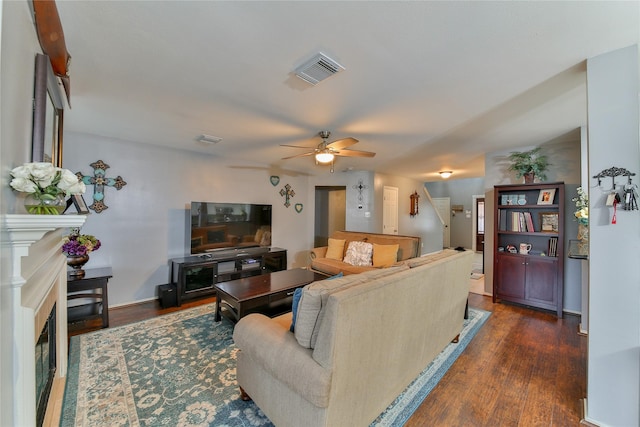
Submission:
[[64,394],[68,345],[67,265],[60,248],[62,236],[85,219],[83,215],[2,216],[9,280],[2,283],[6,299],[0,346],[11,350],[0,358],[3,396],[10,396],[0,405],[7,425],[58,424],[51,409]]

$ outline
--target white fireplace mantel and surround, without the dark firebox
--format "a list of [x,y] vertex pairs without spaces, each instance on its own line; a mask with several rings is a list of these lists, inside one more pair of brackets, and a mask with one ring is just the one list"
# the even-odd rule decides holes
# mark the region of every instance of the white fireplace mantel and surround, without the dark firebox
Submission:
[[[56,307],[56,380],[67,370],[67,266],[61,243],[70,228],[81,227],[85,215],[2,215],[3,246],[11,256],[8,297],[12,334],[3,338],[12,352],[2,357],[3,372],[13,375],[11,425],[35,425],[35,343]],[[8,277],[7,277],[8,278]],[[10,355],[5,358],[5,355]],[[7,369],[8,368],[8,369]],[[4,376],[3,376],[4,378]],[[4,409],[3,414],[8,414]],[[3,415],[3,418],[5,415]],[[7,420],[8,421],[8,420]]]

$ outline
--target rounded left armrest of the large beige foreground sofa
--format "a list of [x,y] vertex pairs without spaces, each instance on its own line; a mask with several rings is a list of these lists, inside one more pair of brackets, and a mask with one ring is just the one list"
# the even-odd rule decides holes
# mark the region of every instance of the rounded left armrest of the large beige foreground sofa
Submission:
[[236,324],[233,340],[249,363],[259,365],[315,406],[327,407],[331,371],[313,360],[313,350],[300,346],[288,329],[262,314],[249,314]]

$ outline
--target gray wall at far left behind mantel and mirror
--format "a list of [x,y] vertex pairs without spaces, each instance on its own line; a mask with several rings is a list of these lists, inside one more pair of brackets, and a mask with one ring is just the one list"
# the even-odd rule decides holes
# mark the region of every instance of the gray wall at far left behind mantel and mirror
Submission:
[[[21,206],[9,187],[9,171],[31,161],[31,124],[36,53],[41,53],[26,1],[0,2],[0,214],[13,214]],[[15,420],[14,378],[22,362],[15,360],[13,311],[9,284],[13,259],[6,230],[0,232],[0,420]]]

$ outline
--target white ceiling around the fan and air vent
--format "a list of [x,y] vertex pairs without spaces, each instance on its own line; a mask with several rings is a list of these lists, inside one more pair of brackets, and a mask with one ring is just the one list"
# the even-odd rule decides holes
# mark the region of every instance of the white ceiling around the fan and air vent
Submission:
[[[310,157],[352,136],[376,157],[336,171],[423,181],[484,175],[484,153],[586,124],[587,58],[640,42],[640,2],[65,1],[65,130],[329,173]],[[312,86],[317,52],[346,70]],[[223,138],[215,145],[201,134]],[[286,173],[286,171],[283,171]]]

